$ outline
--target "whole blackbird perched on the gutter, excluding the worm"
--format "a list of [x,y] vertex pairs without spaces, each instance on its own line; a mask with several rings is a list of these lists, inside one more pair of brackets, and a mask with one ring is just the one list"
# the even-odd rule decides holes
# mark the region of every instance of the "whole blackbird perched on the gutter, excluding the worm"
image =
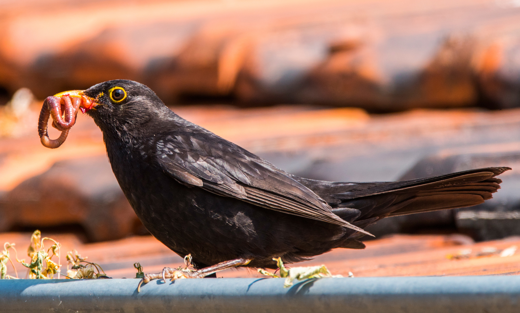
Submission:
[[[483,203],[500,188],[495,176],[511,169],[394,182],[306,179],[180,118],[140,83],[114,80],[58,95],[83,99],[135,213],[175,253],[191,254],[199,269],[191,277],[363,249],[363,228],[376,220]],[[179,277],[174,272],[162,275]]]

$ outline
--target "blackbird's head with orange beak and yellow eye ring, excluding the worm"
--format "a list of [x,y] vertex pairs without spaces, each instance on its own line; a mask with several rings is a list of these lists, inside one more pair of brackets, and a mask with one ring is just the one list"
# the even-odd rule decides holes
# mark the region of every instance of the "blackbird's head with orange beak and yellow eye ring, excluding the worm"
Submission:
[[103,82],[86,90],[71,90],[55,96],[82,98],[80,110],[92,116],[103,133],[142,131],[143,124],[171,113],[150,88],[129,80]]

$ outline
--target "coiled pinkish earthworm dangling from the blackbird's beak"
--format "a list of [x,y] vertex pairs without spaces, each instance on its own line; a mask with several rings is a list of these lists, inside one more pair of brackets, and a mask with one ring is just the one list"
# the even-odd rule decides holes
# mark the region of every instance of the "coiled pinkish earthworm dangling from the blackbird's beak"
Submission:
[[[38,119],[38,135],[40,135],[42,145],[54,149],[65,142],[69,129],[76,122],[77,108],[81,101],[81,98],[69,96],[51,96],[43,101],[40,119]],[[50,139],[47,133],[49,116],[53,117],[53,127],[61,131],[61,135],[57,139]]]

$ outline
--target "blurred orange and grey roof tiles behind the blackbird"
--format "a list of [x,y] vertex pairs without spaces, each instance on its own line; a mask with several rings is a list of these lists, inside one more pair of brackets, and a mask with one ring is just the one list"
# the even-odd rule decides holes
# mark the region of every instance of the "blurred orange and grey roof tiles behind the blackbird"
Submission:
[[92,119],[59,149],[37,136],[43,99],[112,79],[307,178],[513,168],[484,204],[371,226],[415,235],[385,251],[520,235],[518,0],[0,0],[0,241],[38,228],[122,277],[182,260],[137,219]]

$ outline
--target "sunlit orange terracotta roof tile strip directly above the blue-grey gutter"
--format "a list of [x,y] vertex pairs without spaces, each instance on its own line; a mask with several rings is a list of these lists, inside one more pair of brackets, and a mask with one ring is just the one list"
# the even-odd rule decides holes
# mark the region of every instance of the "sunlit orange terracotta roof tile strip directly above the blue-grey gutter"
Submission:
[[[49,234],[45,234],[49,236]],[[82,244],[71,234],[51,237],[62,244],[63,255],[76,249],[90,262],[99,263],[113,278],[133,278],[133,267],[139,262],[145,272],[160,272],[163,267],[184,265],[183,259],[167,249],[151,236],[132,237],[122,240]],[[19,258],[25,255],[30,233],[1,233],[0,243],[16,242]],[[517,275],[520,273],[520,254],[501,257],[509,247],[520,246],[520,238],[467,244],[459,235],[393,235],[367,241],[365,250],[334,249],[313,260],[296,266],[325,264],[334,274],[348,276],[352,271],[356,277],[373,276],[458,276],[458,275]],[[466,244],[461,244],[461,243]],[[493,249],[494,252],[490,252]],[[457,256],[458,257],[453,257]],[[27,259],[27,257],[25,257]],[[62,258],[61,262],[65,262]],[[25,269],[17,264],[19,275]],[[13,274],[10,266],[8,273]],[[254,269],[231,269],[218,273],[218,277],[262,277]]]

